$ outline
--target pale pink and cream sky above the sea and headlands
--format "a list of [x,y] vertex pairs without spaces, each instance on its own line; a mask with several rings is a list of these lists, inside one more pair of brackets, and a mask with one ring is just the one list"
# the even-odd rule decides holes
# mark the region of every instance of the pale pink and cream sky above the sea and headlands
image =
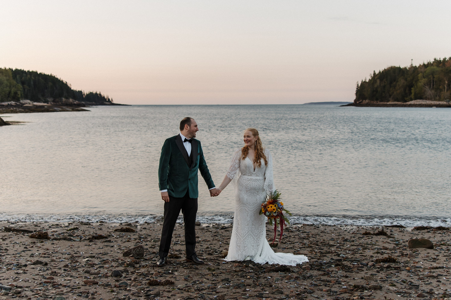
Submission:
[[0,67],[125,104],[353,101],[385,67],[451,56],[451,1],[3,0]]

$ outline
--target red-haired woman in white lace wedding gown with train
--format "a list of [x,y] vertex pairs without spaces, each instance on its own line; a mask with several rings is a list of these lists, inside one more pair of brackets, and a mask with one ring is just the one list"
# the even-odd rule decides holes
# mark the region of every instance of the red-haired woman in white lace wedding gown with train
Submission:
[[262,147],[258,131],[244,131],[244,147],[235,151],[221,192],[230,181],[235,187],[235,217],[229,252],[225,260],[253,260],[259,264],[296,265],[308,261],[304,255],[274,253],[266,240],[266,217],[258,211],[269,192],[275,190],[271,153]]

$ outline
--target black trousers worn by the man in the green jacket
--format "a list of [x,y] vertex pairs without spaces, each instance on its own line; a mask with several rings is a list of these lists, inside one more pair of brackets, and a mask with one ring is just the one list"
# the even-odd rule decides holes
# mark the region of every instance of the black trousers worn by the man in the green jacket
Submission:
[[176,198],[169,196],[169,202],[165,202],[165,212],[163,228],[161,229],[160,249],[158,255],[166,257],[169,253],[172,233],[174,231],[175,222],[182,210],[183,220],[185,224],[185,247],[186,256],[189,257],[196,252],[196,213],[198,209],[198,198],[190,198],[188,191],[184,197]]

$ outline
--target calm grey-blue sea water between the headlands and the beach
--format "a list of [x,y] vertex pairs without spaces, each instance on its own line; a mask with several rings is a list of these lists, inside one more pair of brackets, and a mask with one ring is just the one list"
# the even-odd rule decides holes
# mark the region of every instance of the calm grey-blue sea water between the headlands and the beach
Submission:
[[[451,225],[451,111],[334,105],[92,107],[5,114],[0,219],[152,221],[163,211],[158,160],[179,121],[197,138],[219,185],[243,130],[272,152],[276,187],[295,223]],[[231,222],[233,188],[198,217]]]

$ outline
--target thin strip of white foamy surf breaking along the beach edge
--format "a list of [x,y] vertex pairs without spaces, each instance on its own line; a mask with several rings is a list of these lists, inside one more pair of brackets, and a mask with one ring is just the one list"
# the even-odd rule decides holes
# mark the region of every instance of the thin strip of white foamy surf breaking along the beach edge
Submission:
[[[106,222],[106,223],[153,223],[161,222],[162,215],[9,215],[0,214],[0,221],[15,222]],[[324,224],[324,225],[357,225],[357,226],[382,226],[403,225],[414,226],[443,226],[451,227],[450,218],[439,217],[412,217],[400,216],[290,216],[290,224]],[[233,214],[224,215],[198,215],[197,220],[207,224],[233,223]],[[177,222],[183,221],[180,215]]]

